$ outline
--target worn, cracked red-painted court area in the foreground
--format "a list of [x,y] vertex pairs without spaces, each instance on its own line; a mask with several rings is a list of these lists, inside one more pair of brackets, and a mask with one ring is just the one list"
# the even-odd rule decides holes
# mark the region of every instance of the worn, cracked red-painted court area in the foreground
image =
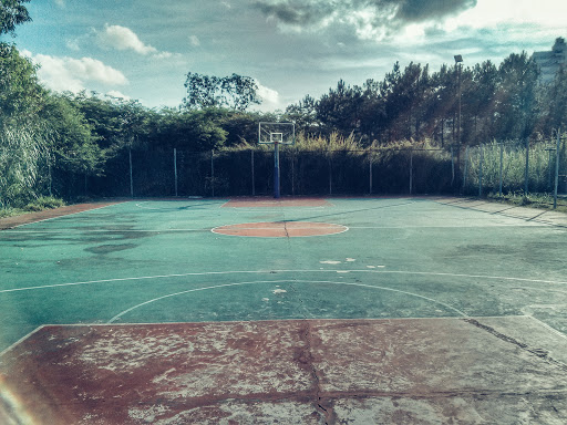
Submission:
[[43,326],[0,423],[564,424],[566,349],[529,317]]

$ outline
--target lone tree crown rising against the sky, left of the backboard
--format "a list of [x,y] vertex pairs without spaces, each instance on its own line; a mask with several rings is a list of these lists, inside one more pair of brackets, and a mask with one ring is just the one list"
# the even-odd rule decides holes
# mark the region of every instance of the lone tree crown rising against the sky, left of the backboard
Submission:
[[183,106],[187,110],[227,107],[246,111],[252,104],[260,104],[258,84],[249,76],[209,76],[189,72],[185,81],[187,96]]

